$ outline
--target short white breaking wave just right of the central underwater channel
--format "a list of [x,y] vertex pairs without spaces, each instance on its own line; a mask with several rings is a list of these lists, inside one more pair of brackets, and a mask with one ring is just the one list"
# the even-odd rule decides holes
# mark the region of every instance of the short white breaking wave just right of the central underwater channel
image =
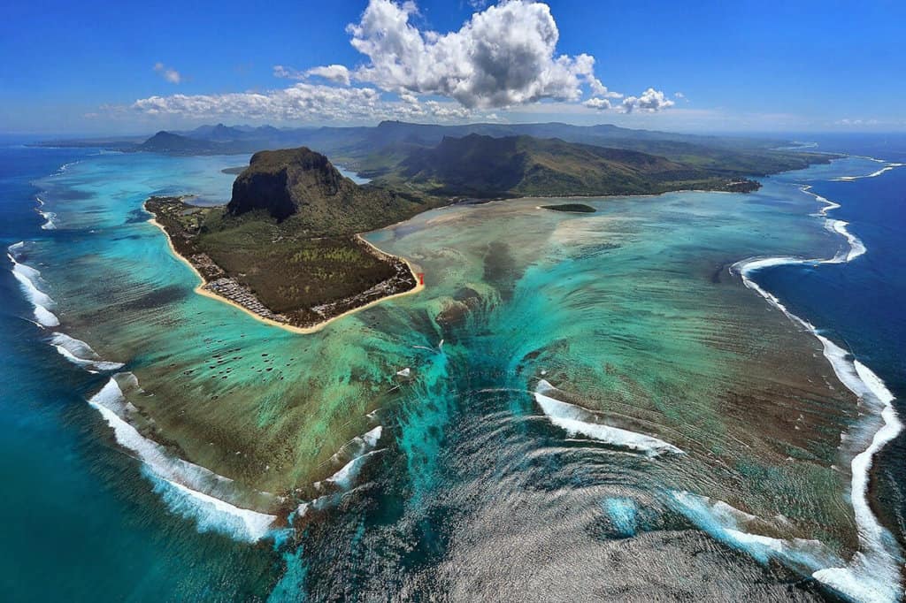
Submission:
[[628,448],[648,456],[658,456],[663,453],[683,454],[683,451],[676,446],[656,437],[597,423],[598,417],[592,411],[562,402],[548,395],[555,391],[557,389],[554,386],[545,379],[541,379],[535,388],[535,402],[538,403],[551,423],[564,429],[570,436],[590,437],[608,445]]

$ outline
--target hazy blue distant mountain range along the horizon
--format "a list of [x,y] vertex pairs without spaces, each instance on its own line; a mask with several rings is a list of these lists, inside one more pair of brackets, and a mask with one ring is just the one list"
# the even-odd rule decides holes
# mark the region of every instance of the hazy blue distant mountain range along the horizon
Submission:
[[[362,176],[383,177],[398,172],[413,153],[427,151],[444,139],[472,134],[507,139],[532,137],[604,148],[622,148],[656,155],[688,168],[708,171],[709,177],[766,176],[805,168],[829,160],[820,153],[782,149],[782,139],[701,136],[656,130],[627,129],[612,124],[574,126],[565,123],[475,123],[441,126],[381,121],[375,127],[276,129],[271,126],[201,126],[188,132],[161,132],[133,150],[180,155],[254,153],[267,148],[313,148],[354,169]],[[173,137],[181,137],[176,139]],[[102,145],[101,145],[102,146]],[[128,150],[128,148],[123,148]]]

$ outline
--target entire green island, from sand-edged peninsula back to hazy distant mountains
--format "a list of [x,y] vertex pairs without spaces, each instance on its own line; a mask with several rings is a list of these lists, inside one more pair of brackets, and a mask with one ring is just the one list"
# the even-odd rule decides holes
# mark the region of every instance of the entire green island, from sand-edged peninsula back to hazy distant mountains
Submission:
[[[237,175],[226,206],[193,206],[186,196],[154,196],[145,203],[173,251],[198,273],[198,292],[302,332],[418,291],[416,268],[361,235],[429,209],[526,196],[745,193],[760,187],[747,175],[834,158],[773,148],[768,145],[777,141],[758,139],[564,124],[486,126],[383,122],[376,128],[293,133],[218,124],[191,136],[162,131],[135,150],[209,154],[304,136],[371,177],[356,184],[309,147],[261,150],[247,167],[222,170]],[[574,202],[543,207],[595,211]]]

